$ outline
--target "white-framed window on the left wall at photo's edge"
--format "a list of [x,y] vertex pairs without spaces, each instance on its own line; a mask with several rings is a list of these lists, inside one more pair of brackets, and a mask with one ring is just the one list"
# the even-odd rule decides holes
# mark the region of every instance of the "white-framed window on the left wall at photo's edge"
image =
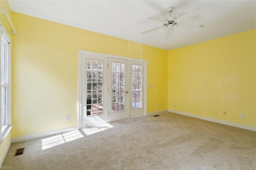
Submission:
[[1,117],[0,132],[1,141],[10,131],[10,38],[5,30],[1,27]]

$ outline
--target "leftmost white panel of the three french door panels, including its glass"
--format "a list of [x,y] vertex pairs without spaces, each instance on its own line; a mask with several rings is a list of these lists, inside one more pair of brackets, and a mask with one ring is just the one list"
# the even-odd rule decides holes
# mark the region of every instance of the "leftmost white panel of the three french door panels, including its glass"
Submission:
[[108,122],[108,60],[97,55],[85,55],[81,62],[82,127]]

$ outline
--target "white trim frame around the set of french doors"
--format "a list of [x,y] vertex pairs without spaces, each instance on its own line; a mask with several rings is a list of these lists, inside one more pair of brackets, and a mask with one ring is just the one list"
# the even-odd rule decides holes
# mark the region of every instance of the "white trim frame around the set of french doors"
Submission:
[[[78,50],[78,129],[82,128],[82,55],[97,55],[99,57],[111,57],[111,58],[116,58],[116,59],[126,59],[128,61],[142,61],[144,64],[144,77],[145,77],[145,83],[144,83],[144,89],[145,92],[143,94],[144,97],[144,116],[147,115],[147,61],[142,60],[142,59],[134,59],[130,57],[121,57],[117,55],[109,55],[109,54],[104,54],[104,53],[95,53],[91,51],[83,51],[83,50]],[[129,87],[129,83],[128,83]],[[130,103],[130,102],[128,102]],[[130,106],[129,106],[130,107]],[[128,109],[128,114],[129,114],[129,109]],[[129,117],[128,117],[129,119]]]

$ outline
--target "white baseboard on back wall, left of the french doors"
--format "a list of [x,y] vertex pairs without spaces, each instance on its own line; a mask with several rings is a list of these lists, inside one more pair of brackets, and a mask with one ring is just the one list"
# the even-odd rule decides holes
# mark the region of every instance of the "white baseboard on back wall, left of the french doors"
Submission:
[[78,130],[78,127],[62,128],[62,129],[58,129],[58,130],[52,130],[52,131],[48,131],[48,132],[42,132],[42,133],[31,134],[28,136],[12,138],[12,143],[26,141],[26,140],[30,140],[30,139],[42,138],[42,137],[51,136],[54,134],[70,132],[73,130]]

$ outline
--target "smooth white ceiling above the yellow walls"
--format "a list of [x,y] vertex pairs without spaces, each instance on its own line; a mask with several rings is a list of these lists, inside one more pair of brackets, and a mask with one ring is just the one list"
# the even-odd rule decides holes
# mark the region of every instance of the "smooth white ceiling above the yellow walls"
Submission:
[[[162,49],[174,49],[256,29],[255,0],[8,0],[8,2],[14,12]],[[195,8],[202,10],[200,15],[183,22],[195,26],[203,25],[202,31],[191,32],[177,28],[170,40],[164,40],[165,28],[140,34],[162,26],[160,22],[148,18],[156,16],[167,19],[166,9],[170,6],[175,8],[172,16],[176,17]]]

